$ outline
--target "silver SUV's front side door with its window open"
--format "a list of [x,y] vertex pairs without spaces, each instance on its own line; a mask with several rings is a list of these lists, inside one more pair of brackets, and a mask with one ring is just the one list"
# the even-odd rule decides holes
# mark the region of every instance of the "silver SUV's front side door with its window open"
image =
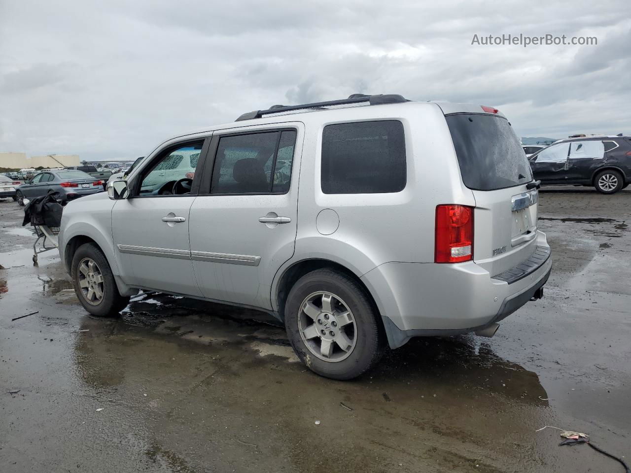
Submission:
[[[130,197],[116,201],[114,251],[129,286],[201,295],[189,247],[189,211],[195,200],[191,179],[183,170],[181,176],[171,175],[167,180],[164,168],[191,156],[197,165],[203,143],[180,143],[160,151],[130,182]],[[175,185],[179,179],[187,180]]]

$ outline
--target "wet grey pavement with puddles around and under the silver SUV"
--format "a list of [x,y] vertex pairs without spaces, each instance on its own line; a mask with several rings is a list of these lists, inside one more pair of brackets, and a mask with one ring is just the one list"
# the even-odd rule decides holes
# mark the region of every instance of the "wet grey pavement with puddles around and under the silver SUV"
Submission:
[[546,424],[631,460],[631,189],[543,190],[545,297],[351,382],[305,370],[264,313],[148,293],[86,315],[22,216],[0,200],[4,473],[622,471]]

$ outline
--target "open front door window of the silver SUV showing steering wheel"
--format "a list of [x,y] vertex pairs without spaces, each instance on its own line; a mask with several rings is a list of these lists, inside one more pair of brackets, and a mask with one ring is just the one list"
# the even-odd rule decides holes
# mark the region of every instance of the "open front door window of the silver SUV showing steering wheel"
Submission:
[[192,180],[203,144],[204,141],[197,141],[167,151],[144,175],[140,195],[172,194],[175,182],[185,178]]

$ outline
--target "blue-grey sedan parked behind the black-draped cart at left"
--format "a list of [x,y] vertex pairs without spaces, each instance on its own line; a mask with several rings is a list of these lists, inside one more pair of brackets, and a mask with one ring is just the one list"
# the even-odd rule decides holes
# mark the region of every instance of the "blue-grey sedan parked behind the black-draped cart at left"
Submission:
[[78,197],[103,192],[103,181],[83,171],[72,169],[42,172],[16,189],[18,204],[24,205],[25,198],[45,196],[49,189],[59,192],[59,199],[62,204],[66,204]]

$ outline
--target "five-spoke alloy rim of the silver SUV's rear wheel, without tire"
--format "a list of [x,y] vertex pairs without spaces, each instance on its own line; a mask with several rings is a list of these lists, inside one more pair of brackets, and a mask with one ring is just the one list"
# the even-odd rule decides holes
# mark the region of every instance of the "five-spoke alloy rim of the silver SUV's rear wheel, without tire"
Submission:
[[348,358],[357,342],[357,322],[339,296],[326,291],[310,294],[300,304],[298,331],[317,358],[337,362]]

